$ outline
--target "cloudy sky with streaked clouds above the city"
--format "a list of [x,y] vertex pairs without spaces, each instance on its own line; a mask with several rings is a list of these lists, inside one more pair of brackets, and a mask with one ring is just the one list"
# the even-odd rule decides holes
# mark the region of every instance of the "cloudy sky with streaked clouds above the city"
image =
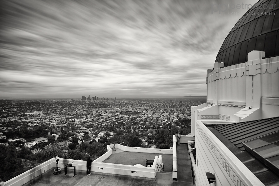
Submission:
[[2,0],[0,98],[206,95],[243,2]]

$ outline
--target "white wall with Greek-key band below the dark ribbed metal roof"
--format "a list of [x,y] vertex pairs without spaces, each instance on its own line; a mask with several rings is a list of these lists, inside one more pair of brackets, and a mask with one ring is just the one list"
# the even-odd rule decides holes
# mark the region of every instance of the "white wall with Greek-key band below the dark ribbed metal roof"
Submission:
[[196,121],[195,147],[197,186],[210,186],[206,172],[215,174],[216,186],[264,185],[200,120]]

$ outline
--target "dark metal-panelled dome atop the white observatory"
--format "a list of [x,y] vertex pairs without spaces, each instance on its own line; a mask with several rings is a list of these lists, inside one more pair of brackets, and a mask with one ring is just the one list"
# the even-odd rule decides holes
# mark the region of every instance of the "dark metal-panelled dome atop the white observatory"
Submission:
[[[277,5],[278,3],[278,5]],[[265,57],[279,55],[279,0],[260,0],[237,21],[216,56],[215,62],[230,66],[247,61],[253,50]]]

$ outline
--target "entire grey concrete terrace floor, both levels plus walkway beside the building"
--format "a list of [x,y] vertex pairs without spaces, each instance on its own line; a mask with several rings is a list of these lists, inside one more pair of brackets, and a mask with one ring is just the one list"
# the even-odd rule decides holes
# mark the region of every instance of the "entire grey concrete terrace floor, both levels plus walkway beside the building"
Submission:
[[[113,152],[104,162],[106,163],[119,163],[125,165],[135,165],[141,164],[145,166],[146,159],[154,159],[155,156],[160,154],[154,153],[135,153],[135,152],[125,152],[122,150],[117,150]],[[164,162],[164,169],[170,169],[172,167],[172,155],[161,154],[162,160]],[[170,157],[169,157],[170,156]],[[40,178],[29,184],[30,186],[192,186],[193,177],[191,165],[189,163],[187,144],[181,144],[177,147],[177,160],[178,160],[178,171],[177,171],[177,181],[168,179],[170,174],[165,171],[157,173],[156,180],[142,180],[133,178],[124,178],[117,176],[108,175],[96,175],[91,174],[86,176],[86,173],[78,172],[78,174],[73,177],[73,171],[68,170],[68,174],[64,175],[64,171],[60,175],[53,175],[53,171],[48,172],[45,175],[40,176]],[[169,171],[169,172],[170,172]],[[172,178],[171,178],[172,179]]]

